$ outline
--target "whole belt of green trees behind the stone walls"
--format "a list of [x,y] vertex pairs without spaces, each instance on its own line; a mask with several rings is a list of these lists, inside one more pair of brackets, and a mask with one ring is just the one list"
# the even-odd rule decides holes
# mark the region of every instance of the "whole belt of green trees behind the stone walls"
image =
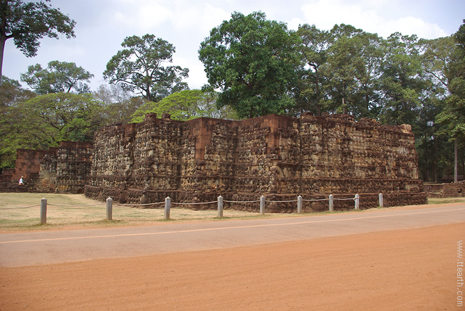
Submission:
[[122,46],[106,65],[111,84],[96,91],[75,63],[30,66],[21,80],[32,91],[4,77],[1,167],[14,166],[17,148],[91,141],[102,126],[147,112],[177,120],[328,112],[410,124],[423,180],[452,176],[454,150],[465,174],[465,24],[450,37],[384,39],[350,25],[291,31],[261,12],[233,13],[200,44],[209,79],[202,90],[182,81],[189,70],[171,65],[175,48],[165,40],[146,34]]

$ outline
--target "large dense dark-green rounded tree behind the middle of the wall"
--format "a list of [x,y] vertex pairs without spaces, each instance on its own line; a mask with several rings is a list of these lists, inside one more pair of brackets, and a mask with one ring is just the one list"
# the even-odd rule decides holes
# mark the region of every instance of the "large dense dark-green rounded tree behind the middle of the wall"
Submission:
[[232,106],[240,118],[287,113],[296,79],[298,36],[284,23],[254,12],[233,13],[202,42],[199,59],[209,84],[221,89],[219,106]]

